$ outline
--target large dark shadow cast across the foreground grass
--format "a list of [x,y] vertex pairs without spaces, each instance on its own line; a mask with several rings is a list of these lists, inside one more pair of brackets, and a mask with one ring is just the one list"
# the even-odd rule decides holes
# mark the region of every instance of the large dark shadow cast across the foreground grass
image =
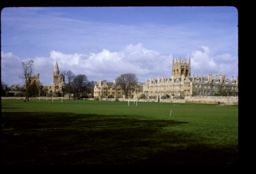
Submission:
[[228,164],[234,147],[211,147],[187,122],[125,115],[2,113],[3,164]]

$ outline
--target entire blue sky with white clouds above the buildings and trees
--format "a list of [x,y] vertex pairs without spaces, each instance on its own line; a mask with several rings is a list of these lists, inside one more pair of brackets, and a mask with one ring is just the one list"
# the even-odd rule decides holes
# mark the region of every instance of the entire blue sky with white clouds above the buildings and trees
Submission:
[[1,81],[24,84],[21,62],[51,85],[60,71],[89,81],[134,73],[138,81],[172,76],[173,57],[193,74],[238,75],[238,11],[232,6],[4,8]]

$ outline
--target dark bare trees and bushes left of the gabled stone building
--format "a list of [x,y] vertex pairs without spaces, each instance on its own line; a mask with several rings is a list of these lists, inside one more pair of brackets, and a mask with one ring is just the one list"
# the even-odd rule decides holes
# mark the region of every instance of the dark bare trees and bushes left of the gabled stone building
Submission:
[[[46,96],[47,89],[43,88],[43,85],[37,82],[31,82],[31,77],[34,77],[34,61],[22,61],[21,62],[22,73],[19,78],[23,79],[24,85],[17,85],[15,88],[10,88],[5,82],[1,81],[1,96],[17,96],[26,97],[26,101],[29,102],[30,97]],[[91,88],[94,87],[94,81],[88,81],[87,76],[83,74],[75,75],[72,71],[63,71],[64,86],[62,88],[63,95],[67,94],[70,97],[73,95],[74,99],[80,99],[80,97],[93,97],[88,96],[88,93],[93,94]],[[14,85],[13,85],[14,86]],[[52,92],[50,92],[53,95]],[[55,93],[55,96],[59,96],[59,93]]]

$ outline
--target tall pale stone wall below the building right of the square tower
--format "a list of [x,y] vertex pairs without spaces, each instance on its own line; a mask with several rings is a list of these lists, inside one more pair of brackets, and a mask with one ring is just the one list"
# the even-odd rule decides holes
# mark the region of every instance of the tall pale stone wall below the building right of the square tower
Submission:
[[238,96],[186,96],[186,103],[238,104]]

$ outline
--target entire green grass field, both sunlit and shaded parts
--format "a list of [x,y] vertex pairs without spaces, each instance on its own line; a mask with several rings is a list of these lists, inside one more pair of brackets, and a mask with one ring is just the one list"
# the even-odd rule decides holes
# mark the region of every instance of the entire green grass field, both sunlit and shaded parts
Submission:
[[238,162],[238,106],[2,100],[1,124],[3,164]]

